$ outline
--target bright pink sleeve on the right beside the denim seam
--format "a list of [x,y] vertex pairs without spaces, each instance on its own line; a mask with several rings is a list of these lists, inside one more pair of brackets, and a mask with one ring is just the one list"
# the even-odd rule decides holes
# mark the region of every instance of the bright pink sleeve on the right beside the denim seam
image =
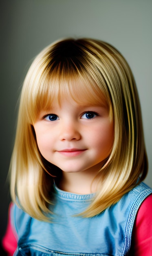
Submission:
[[152,194],[139,208],[132,238],[134,256],[152,256]]

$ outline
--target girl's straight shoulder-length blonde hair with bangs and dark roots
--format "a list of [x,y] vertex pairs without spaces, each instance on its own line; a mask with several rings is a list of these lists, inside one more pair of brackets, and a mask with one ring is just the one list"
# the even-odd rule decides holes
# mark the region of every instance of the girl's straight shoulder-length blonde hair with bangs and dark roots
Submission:
[[53,180],[62,172],[40,154],[33,124],[41,110],[65,94],[98,105],[104,95],[114,123],[112,151],[97,177],[99,182],[101,174],[104,177],[101,190],[84,216],[95,216],[118,202],[148,170],[139,97],[126,60],[100,40],[57,41],[35,58],[24,80],[10,166],[13,201],[38,220],[48,220]]

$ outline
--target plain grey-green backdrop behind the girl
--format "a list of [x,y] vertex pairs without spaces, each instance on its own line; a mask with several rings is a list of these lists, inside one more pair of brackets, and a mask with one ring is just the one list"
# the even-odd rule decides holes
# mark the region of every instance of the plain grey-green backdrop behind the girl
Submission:
[[0,238],[10,202],[7,171],[20,88],[31,59],[63,37],[93,37],[114,45],[132,68],[143,114],[152,186],[152,0],[1,0]]

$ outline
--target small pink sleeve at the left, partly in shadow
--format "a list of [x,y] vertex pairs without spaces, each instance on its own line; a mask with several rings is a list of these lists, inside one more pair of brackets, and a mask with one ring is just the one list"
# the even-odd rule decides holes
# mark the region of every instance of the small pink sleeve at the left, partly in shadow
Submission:
[[[12,206],[13,206],[13,203],[11,203],[9,206],[9,217],[8,217],[7,230],[4,235],[4,238],[2,239],[2,246],[3,246],[4,250],[7,252],[8,256],[12,256],[17,247],[17,240],[15,238],[15,230],[13,229],[13,227],[11,225],[11,217],[10,217],[10,211],[11,211]],[[17,237],[17,234],[16,234],[16,237]]]

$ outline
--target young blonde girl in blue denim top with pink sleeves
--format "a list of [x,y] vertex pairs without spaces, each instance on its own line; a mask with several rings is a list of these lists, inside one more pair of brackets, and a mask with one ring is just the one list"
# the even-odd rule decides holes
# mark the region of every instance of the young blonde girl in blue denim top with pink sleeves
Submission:
[[108,43],[33,61],[11,159],[9,255],[151,256],[152,189],[132,72]]

